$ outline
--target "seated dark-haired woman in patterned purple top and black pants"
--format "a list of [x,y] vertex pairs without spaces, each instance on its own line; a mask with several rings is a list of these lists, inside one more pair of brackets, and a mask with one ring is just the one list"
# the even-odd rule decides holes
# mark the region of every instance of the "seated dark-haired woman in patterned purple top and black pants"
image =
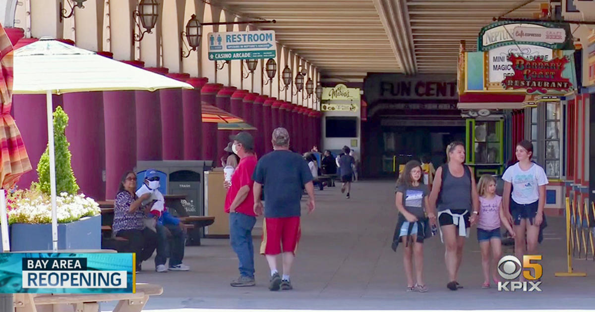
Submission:
[[118,194],[114,203],[114,223],[112,231],[115,236],[128,239],[129,245],[120,253],[136,253],[136,272],[140,272],[140,263],[151,258],[157,246],[157,234],[145,228],[145,208],[141,207],[143,200],[148,200],[151,194],[137,197],[136,174],[126,172],[120,181]]

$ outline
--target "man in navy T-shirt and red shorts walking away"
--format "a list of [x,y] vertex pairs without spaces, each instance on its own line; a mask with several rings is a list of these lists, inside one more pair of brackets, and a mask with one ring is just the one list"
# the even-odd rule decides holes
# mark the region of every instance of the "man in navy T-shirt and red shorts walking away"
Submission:
[[[315,209],[312,174],[302,156],[290,152],[289,133],[285,128],[273,131],[273,152],[258,160],[254,171],[254,212],[262,215],[261,254],[271,269],[269,289],[293,289],[289,278],[300,239],[302,188],[308,193],[308,213]],[[265,206],[261,192],[264,185]],[[283,278],[277,271],[277,256],[282,254]]]

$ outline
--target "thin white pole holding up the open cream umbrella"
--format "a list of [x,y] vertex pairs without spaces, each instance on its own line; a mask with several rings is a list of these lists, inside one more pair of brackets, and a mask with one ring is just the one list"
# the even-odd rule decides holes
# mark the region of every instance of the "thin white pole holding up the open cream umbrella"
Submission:
[[58,251],[58,216],[56,212],[56,158],[54,146],[54,109],[52,109],[52,92],[46,93],[46,110],[48,115],[48,150],[49,150],[49,186],[52,197],[52,248]]

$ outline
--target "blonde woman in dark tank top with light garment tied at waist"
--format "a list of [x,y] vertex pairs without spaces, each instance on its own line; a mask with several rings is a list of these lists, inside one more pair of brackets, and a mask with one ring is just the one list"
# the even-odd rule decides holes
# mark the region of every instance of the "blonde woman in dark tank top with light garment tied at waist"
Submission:
[[428,213],[428,217],[436,224],[436,216],[440,213],[440,234],[446,247],[444,261],[449,275],[446,286],[456,291],[463,288],[457,282],[459,267],[467,228],[477,222],[479,197],[473,172],[464,165],[465,145],[461,142],[450,143],[446,148],[446,155],[446,165],[436,171],[430,193],[431,213]]

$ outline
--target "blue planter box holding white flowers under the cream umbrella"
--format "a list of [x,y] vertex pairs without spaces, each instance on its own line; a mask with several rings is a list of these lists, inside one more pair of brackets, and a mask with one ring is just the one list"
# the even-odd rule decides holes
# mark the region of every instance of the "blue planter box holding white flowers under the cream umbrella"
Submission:
[[[11,251],[52,250],[52,224],[14,223]],[[101,215],[58,223],[58,249],[101,249]]]

